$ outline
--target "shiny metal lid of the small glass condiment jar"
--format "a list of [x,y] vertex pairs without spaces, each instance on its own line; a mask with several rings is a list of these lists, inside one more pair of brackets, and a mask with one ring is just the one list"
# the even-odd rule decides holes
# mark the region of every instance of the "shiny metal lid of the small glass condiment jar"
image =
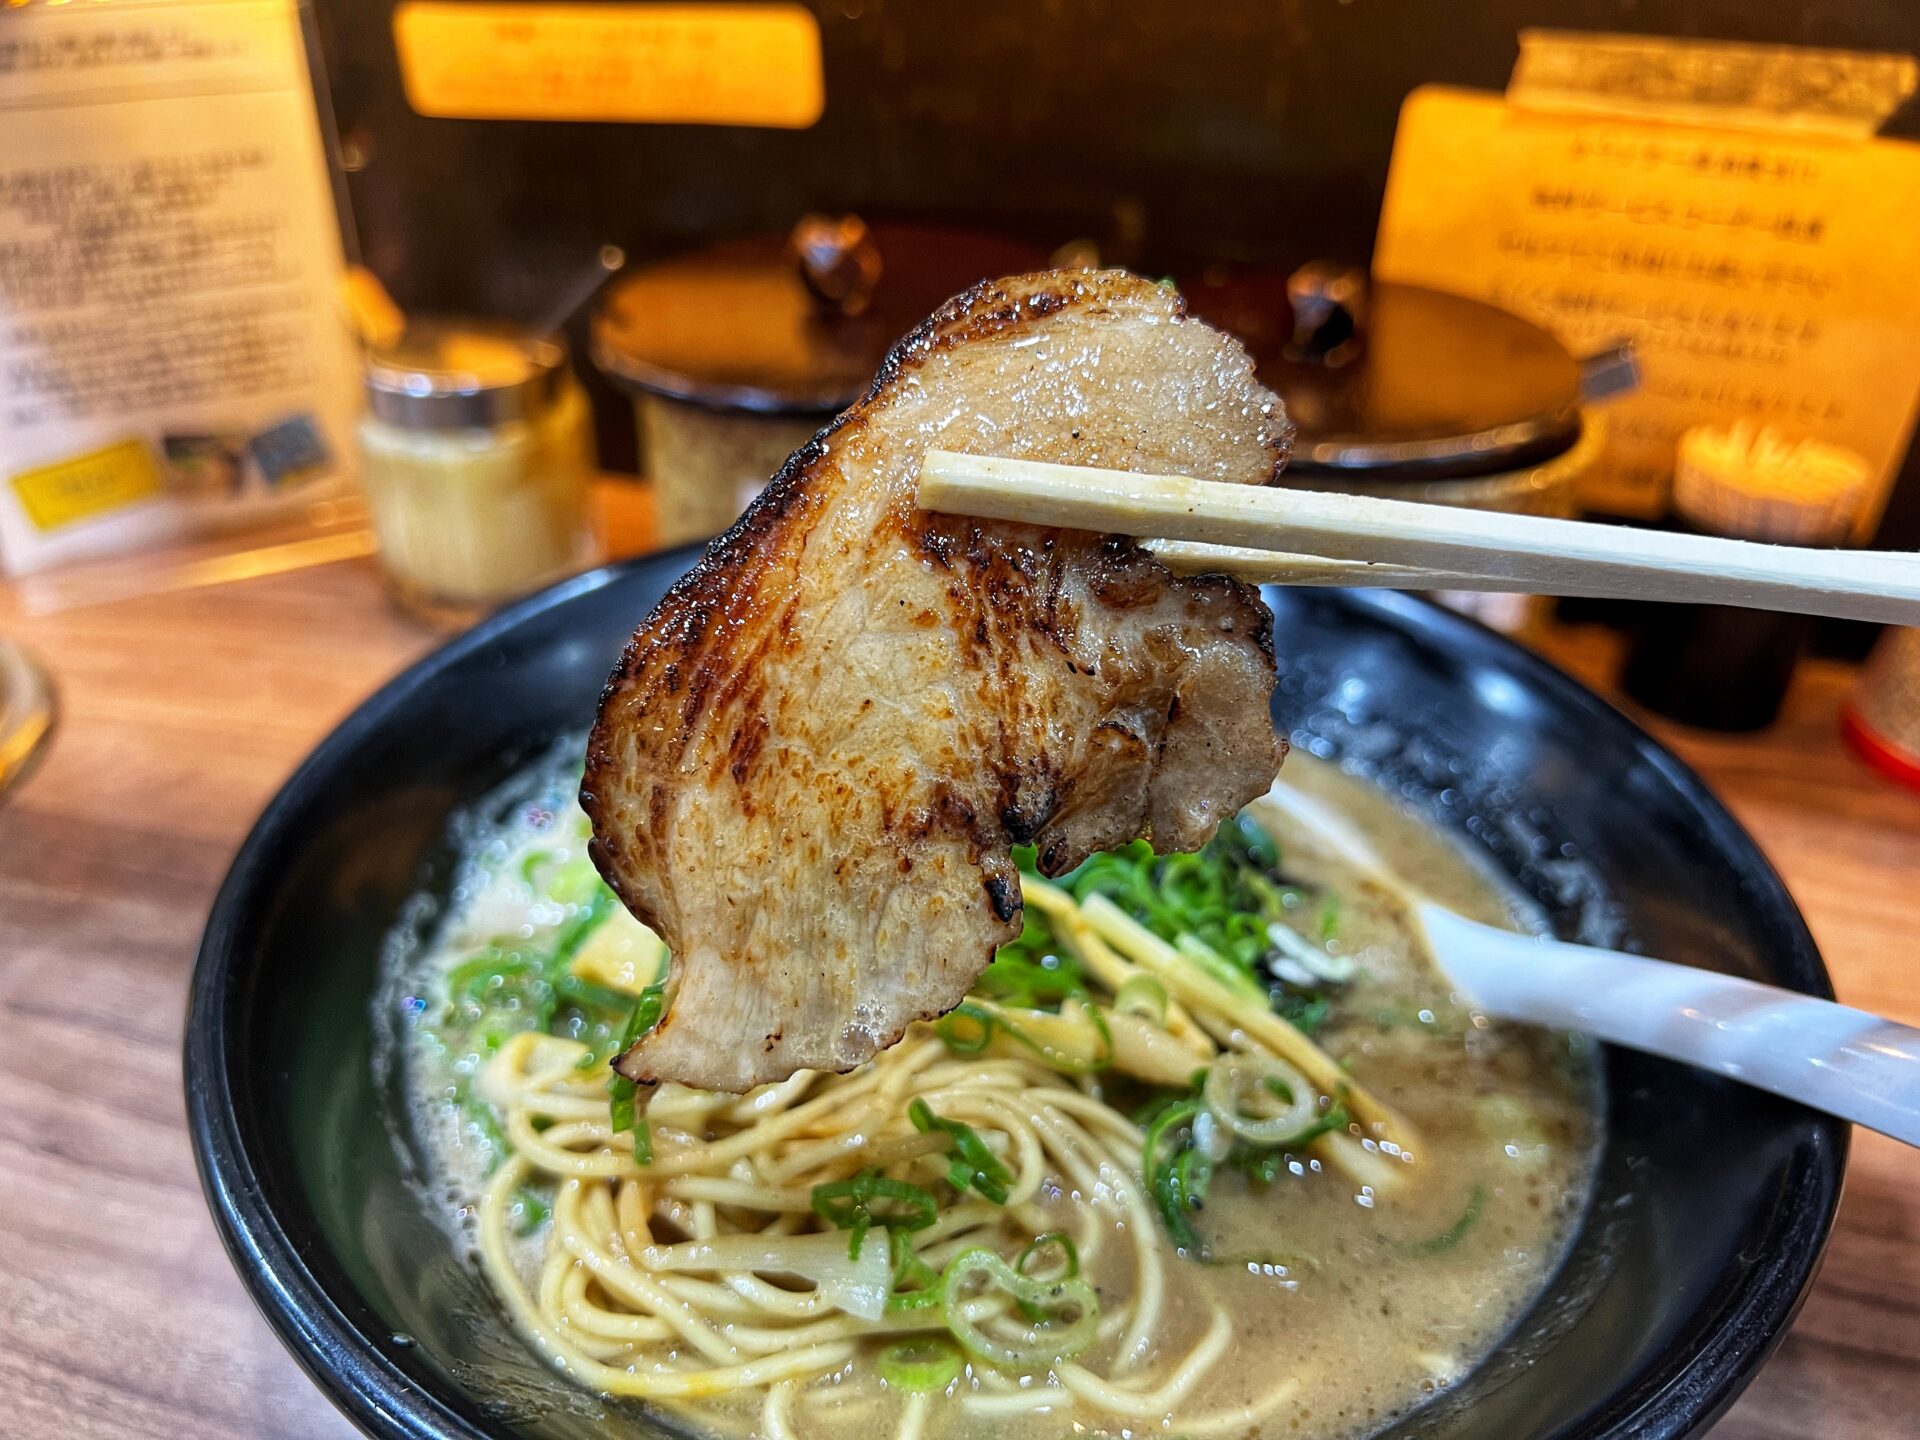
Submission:
[[511,324],[407,321],[367,355],[367,411],[405,430],[468,430],[530,420],[555,397],[566,346]]

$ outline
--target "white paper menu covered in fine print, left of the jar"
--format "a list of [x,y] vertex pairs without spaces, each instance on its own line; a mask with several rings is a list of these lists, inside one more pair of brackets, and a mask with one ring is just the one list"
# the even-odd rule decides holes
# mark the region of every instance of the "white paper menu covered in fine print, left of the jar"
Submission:
[[0,8],[0,568],[340,484],[340,275],[294,0]]

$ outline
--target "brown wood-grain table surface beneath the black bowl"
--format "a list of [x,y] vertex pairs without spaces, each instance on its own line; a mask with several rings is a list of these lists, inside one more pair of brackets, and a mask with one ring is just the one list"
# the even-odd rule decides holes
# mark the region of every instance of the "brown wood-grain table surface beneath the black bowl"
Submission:
[[[346,1436],[227,1265],[180,1098],[215,885],[301,755],[434,636],[371,563],[23,614],[52,751],[0,808],[0,1434]],[[1611,645],[1548,649],[1597,678]],[[1803,668],[1763,737],[1674,733],[1774,858],[1843,998],[1920,1023],[1920,795],[1836,741],[1851,672]],[[1716,1440],[1920,1430],[1920,1152],[1857,1135],[1826,1267]]]

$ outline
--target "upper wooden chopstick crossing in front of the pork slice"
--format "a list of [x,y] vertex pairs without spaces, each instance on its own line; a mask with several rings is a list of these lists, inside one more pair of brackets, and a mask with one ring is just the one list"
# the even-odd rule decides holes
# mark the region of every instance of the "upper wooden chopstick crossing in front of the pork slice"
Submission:
[[920,505],[985,520],[1258,549],[1286,574],[1309,555],[1452,576],[1405,582],[1421,586],[1705,601],[1920,624],[1920,555],[1912,553],[1763,545],[943,449],[929,449],[922,461]]

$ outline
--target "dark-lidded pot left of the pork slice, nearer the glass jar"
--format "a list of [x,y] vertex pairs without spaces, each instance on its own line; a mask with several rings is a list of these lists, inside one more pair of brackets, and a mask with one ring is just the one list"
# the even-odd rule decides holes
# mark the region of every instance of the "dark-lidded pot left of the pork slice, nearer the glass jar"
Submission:
[[593,363],[634,396],[660,541],[732,524],[941,301],[1044,263],[995,236],[810,215],[611,284]]

